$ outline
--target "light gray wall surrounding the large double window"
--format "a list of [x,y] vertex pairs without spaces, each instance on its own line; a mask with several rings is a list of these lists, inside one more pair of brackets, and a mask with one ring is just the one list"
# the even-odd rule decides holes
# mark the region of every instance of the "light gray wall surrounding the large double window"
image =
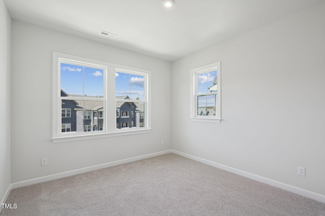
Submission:
[[[53,144],[53,51],[151,70],[152,132]],[[171,149],[170,62],[18,21],[12,56],[12,183]]]

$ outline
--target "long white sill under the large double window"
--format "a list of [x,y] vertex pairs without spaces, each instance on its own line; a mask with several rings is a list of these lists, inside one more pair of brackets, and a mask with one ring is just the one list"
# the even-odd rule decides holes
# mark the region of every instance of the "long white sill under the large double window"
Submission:
[[116,131],[111,133],[101,133],[101,134],[82,134],[78,136],[64,136],[58,138],[52,138],[53,143],[63,143],[63,142],[71,142],[71,141],[81,141],[81,140],[91,140],[91,139],[99,139],[99,138],[107,138],[107,137],[118,137],[118,136],[127,136],[127,135],[136,135],[136,134],[145,134],[150,133],[150,129],[137,129],[137,130],[124,130]]

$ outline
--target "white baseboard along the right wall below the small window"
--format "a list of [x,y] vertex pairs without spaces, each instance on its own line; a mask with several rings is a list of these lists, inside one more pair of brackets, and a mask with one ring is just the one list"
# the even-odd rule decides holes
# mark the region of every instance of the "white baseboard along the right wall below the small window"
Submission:
[[312,191],[308,191],[308,190],[305,190],[305,189],[302,189],[302,188],[298,188],[298,187],[288,185],[288,184],[285,184],[285,183],[282,183],[282,182],[278,182],[278,181],[275,181],[275,180],[272,180],[272,179],[268,179],[268,178],[265,178],[265,177],[262,177],[262,176],[257,176],[255,174],[251,174],[250,172],[246,172],[246,171],[236,169],[236,168],[233,168],[233,167],[230,167],[230,166],[222,165],[220,163],[216,163],[216,162],[213,162],[213,161],[210,161],[210,160],[206,160],[206,159],[196,157],[196,156],[193,156],[193,155],[190,155],[190,154],[186,154],[186,153],[183,153],[183,152],[180,152],[180,151],[176,151],[176,150],[173,150],[173,149],[171,150],[171,152],[175,153],[175,154],[178,154],[178,155],[181,155],[183,157],[187,157],[187,158],[192,159],[192,160],[196,160],[196,161],[199,161],[199,162],[202,162],[202,163],[205,163],[205,164],[208,164],[208,165],[211,165],[211,166],[214,166],[214,167],[229,171],[229,172],[233,172],[234,174],[246,177],[248,179],[252,179],[252,180],[255,180],[255,181],[258,181],[258,182],[262,182],[262,183],[274,186],[276,188],[280,188],[280,189],[283,189],[283,190],[286,190],[286,191],[289,191],[289,192],[292,192],[292,193],[295,193],[295,194],[299,194],[301,196],[305,196],[305,197],[317,200],[319,202],[325,203],[325,196],[322,195],[322,194],[314,193]]

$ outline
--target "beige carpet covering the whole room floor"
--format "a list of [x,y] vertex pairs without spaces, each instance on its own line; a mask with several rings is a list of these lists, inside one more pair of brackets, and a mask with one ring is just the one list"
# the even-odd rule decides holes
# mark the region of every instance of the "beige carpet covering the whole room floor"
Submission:
[[176,154],[11,191],[1,215],[325,215],[325,204]]

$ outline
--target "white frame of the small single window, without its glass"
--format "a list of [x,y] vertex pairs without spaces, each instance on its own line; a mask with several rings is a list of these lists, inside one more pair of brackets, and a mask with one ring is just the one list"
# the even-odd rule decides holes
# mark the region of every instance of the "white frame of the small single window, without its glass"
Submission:
[[[200,116],[198,110],[198,75],[211,71],[217,71],[217,99],[216,115]],[[221,121],[221,62],[205,65],[190,70],[190,120],[195,122],[220,123]]]

